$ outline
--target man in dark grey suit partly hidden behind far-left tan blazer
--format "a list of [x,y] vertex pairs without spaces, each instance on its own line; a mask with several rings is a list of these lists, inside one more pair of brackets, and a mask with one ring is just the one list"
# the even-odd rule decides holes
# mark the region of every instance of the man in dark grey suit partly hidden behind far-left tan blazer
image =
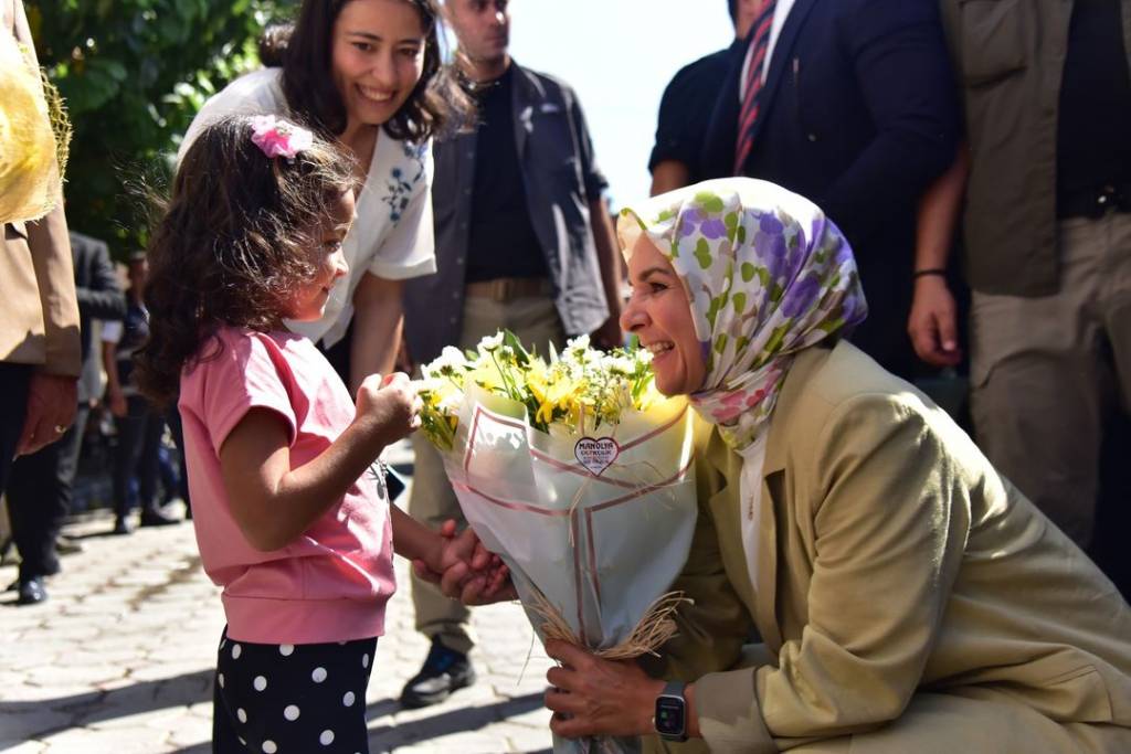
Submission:
[[[90,320],[120,320],[126,314],[126,298],[105,243],[71,233],[70,248],[85,367],[97,354],[92,348]],[[55,539],[70,510],[71,485],[90,402],[98,397],[97,384],[85,379],[89,371],[84,369],[84,379],[79,380],[75,423],[59,442],[17,458],[8,480],[8,517],[20,556],[19,580],[15,584],[20,605],[46,599],[43,578],[59,571]]]

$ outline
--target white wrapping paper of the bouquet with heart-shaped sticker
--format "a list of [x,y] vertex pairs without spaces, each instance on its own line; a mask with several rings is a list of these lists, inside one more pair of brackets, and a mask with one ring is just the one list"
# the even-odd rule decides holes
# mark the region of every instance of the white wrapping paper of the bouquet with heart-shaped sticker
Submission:
[[[691,411],[682,398],[625,411],[586,435],[534,430],[521,404],[469,385],[448,477],[468,523],[594,650],[623,642],[682,570],[697,503]],[[555,739],[554,751],[636,751],[636,739]]]

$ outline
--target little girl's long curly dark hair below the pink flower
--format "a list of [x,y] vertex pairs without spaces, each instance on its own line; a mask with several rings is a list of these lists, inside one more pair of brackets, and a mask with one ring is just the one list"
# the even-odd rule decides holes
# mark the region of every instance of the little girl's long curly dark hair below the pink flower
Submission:
[[293,158],[268,157],[251,122],[230,116],[200,132],[149,243],[149,339],[137,366],[158,405],[175,398],[185,366],[218,355],[218,328],[278,329],[318,271],[323,223],[353,187],[353,159],[331,144],[316,137]]

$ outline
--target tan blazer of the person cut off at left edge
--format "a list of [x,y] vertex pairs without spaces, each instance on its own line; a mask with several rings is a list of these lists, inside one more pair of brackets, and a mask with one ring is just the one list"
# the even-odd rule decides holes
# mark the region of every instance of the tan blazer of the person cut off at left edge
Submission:
[[[20,0],[0,0],[0,25],[35,49]],[[67,218],[60,203],[36,223],[3,226],[0,250],[0,362],[78,376],[81,355]]]

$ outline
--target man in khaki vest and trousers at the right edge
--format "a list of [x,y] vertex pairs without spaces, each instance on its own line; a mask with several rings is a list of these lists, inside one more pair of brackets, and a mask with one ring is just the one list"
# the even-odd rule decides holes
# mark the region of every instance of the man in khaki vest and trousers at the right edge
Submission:
[[959,350],[943,274],[961,213],[978,443],[1126,592],[1131,1],[941,8],[966,144],[933,189],[947,222],[921,249],[912,335],[935,363]]

